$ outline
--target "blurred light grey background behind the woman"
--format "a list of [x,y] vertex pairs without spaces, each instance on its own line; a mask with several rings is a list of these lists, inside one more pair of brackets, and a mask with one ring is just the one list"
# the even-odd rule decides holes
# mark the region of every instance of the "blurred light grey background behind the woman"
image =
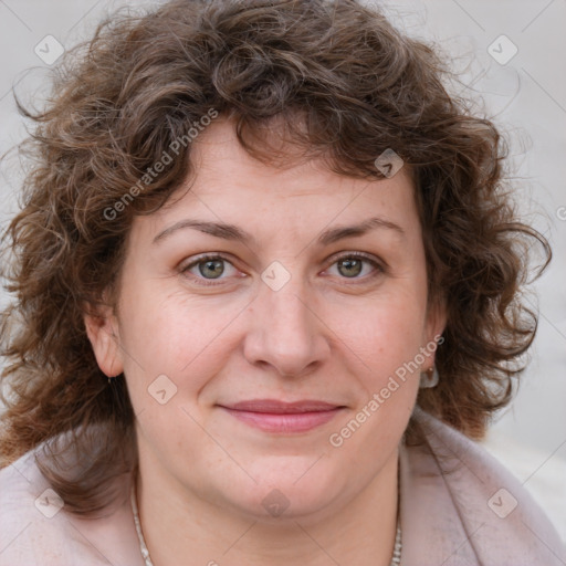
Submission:
[[[371,4],[375,0],[365,0]],[[12,90],[41,107],[50,69],[106,13],[158,2],[0,0],[0,155],[25,136]],[[516,400],[484,442],[533,493],[566,541],[566,0],[381,1],[407,34],[451,62],[452,92],[474,101],[510,145],[524,218],[549,239],[554,260],[532,286],[541,318]],[[0,229],[17,210],[19,160],[0,170]],[[0,292],[0,305],[7,301]],[[1,360],[0,360],[1,361]]]

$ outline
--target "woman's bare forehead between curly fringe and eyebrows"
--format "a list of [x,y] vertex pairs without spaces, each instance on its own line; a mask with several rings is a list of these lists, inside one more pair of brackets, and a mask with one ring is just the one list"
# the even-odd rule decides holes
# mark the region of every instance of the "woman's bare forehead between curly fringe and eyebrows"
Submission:
[[[277,144],[291,157],[300,155],[296,146],[275,137]],[[226,224],[224,231],[235,232],[239,227],[245,232],[242,241],[255,242],[284,234],[312,238],[325,228],[375,217],[384,224],[402,227],[403,232],[418,223],[412,181],[403,168],[391,178],[358,179],[332,171],[322,158],[295,158],[276,167],[251,156],[226,119],[199,134],[190,159],[190,177],[167,205],[135,221],[153,239],[174,224],[195,220]]]

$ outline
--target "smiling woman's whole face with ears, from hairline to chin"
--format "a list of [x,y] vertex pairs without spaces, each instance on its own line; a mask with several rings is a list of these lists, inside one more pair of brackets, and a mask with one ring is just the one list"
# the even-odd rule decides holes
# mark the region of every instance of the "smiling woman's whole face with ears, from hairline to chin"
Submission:
[[275,169],[220,120],[191,158],[190,190],[134,221],[117,311],[87,319],[142,473],[255,517],[334,512],[397,458],[442,331],[411,181]]

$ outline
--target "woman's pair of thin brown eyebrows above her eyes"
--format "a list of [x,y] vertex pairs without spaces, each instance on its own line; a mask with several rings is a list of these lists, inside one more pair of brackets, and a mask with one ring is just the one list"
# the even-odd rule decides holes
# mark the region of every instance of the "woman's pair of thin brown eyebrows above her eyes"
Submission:
[[[242,242],[245,244],[249,243],[255,243],[255,238],[247,232],[245,230],[242,230],[241,228],[237,227],[235,224],[228,224],[224,222],[207,222],[203,220],[192,220],[192,219],[185,219],[180,220],[179,222],[176,222],[175,224],[170,226],[169,228],[166,228],[164,231],[159,232],[154,238],[154,243],[158,243],[172,233],[185,230],[187,228],[199,230],[200,232],[203,232],[206,234],[213,235],[216,238],[221,238],[223,240],[232,240],[235,242]],[[403,229],[396,224],[395,222],[391,222],[389,220],[386,220],[385,218],[380,217],[374,217],[369,218],[367,220],[364,220],[363,222],[353,226],[339,226],[336,228],[331,228],[328,230],[325,230],[321,233],[321,235],[317,238],[317,244],[318,245],[329,245],[334,242],[337,242],[338,240],[343,240],[345,238],[356,238],[366,234],[370,230],[381,228],[387,230],[392,230],[394,232],[397,232],[400,237],[405,237]]]

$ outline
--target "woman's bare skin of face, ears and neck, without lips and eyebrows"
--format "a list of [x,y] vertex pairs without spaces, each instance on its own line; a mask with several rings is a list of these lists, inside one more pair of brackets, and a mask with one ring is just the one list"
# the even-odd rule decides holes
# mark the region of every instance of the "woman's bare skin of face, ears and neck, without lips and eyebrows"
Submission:
[[[117,310],[85,318],[101,369],[124,371],[137,416],[137,496],[153,562],[386,566],[398,444],[419,371],[340,447],[329,437],[443,329],[443,313],[427,302],[409,176],[401,169],[389,179],[353,179],[317,159],[266,166],[221,119],[199,135],[191,159],[191,185],[187,179],[166,207],[133,223]],[[316,243],[328,228],[371,217],[402,233],[379,227]],[[154,242],[189,218],[237,224],[255,242],[191,228]],[[376,265],[348,269],[338,255],[352,252]],[[202,253],[226,258],[219,279],[193,264]],[[274,261],[291,275],[277,291],[261,279]],[[427,356],[420,369],[432,365]],[[159,375],[177,387],[165,405],[148,392]],[[272,433],[219,407],[259,398],[345,408],[310,431]],[[273,490],[289,503],[280,516],[262,504]]]

